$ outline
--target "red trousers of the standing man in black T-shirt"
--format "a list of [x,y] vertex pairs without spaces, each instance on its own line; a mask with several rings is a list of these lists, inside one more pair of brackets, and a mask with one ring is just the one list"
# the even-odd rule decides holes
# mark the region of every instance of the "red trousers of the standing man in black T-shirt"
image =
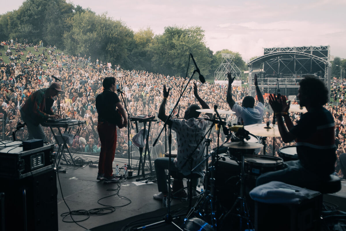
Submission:
[[113,160],[117,146],[117,126],[108,122],[98,122],[97,131],[101,141],[99,158],[99,174],[111,177],[113,173]]

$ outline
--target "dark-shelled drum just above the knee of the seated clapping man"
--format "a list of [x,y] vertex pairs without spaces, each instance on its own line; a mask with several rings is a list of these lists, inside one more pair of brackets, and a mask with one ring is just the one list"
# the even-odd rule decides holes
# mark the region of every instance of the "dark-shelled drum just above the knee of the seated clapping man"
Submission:
[[266,155],[245,155],[245,174],[250,179],[257,179],[265,172],[281,170],[285,168],[283,160],[279,157]]

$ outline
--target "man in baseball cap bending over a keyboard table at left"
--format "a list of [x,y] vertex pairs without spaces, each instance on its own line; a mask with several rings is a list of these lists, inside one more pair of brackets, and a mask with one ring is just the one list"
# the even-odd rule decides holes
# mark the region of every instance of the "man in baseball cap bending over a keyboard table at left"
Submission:
[[51,107],[54,103],[53,97],[61,91],[63,90],[60,83],[52,82],[49,88],[39,89],[31,94],[20,108],[22,120],[28,128],[28,140],[46,141],[46,135],[40,124],[46,122],[48,118],[60,118],[60,115],[54,114]]

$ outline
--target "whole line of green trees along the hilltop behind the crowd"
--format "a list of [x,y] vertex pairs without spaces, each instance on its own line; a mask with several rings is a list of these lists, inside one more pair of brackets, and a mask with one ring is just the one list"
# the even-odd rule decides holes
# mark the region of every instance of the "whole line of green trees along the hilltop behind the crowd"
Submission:
[[[235,64],[247,70],[238,52],[213,52],[199,26],[167,26],[155,35],[151,28],[133,31],[124,21],[97,15],[65,0],[26,0],[13,11],[0,15],[0,41],[28,39],[34,45],[56,45],[71,55],[91,56],[120,64],[125,69],[185,76],[192,53],[207,79],[221,64],[221,52],[235,55]],[[193,70],[190,63],[189,73]]]

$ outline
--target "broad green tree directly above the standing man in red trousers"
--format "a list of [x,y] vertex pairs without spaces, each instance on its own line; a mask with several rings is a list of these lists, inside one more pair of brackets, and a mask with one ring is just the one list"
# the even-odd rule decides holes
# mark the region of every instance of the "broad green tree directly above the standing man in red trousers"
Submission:
[[81,53],[93,60],[98,58],[129,68],[133,36],[133,31],[122,21],[86,10],[72,17],[71,30],[64,34],[64,45],[72,54]]

